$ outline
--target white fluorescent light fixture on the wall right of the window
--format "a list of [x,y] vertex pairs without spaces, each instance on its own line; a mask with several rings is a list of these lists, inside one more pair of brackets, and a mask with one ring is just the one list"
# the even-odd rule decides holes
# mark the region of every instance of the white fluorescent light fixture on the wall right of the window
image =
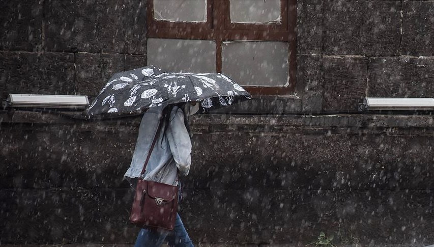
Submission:
[[434,98],[365,98],[360,111],[432,111]]

